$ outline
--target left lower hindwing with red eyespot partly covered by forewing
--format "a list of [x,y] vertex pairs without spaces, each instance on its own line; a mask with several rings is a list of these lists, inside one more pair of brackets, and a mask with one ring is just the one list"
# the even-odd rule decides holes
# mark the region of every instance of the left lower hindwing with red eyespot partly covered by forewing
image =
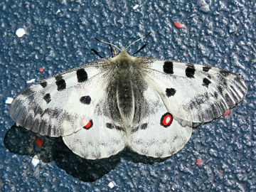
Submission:
[[63,137],[65,144],[85,159],[102,159],[117,154],[125,146],[125,130],[114,121],[107,95],[95,107],[90,123],[78,132]]

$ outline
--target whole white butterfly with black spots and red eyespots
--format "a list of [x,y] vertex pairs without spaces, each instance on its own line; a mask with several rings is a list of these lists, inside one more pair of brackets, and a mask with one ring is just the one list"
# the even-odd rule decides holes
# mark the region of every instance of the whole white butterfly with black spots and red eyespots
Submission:
[[125,147],[164,158],[183,148],[193,124],[220,117],[247,92],[228,70],[134,57],[127,48],[31,85],[11,103],[11,117],[38,134],[63,137],[85,159]]

